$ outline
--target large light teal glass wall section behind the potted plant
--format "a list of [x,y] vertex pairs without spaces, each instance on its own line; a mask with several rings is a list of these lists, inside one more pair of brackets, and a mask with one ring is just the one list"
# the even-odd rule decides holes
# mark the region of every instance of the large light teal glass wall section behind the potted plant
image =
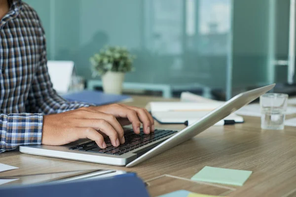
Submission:
[[225,88],[230,0],[25,1],[43,22],[48,59],[74,60],[86,79],[89,57],[108,44],[137,56],[126,81]]

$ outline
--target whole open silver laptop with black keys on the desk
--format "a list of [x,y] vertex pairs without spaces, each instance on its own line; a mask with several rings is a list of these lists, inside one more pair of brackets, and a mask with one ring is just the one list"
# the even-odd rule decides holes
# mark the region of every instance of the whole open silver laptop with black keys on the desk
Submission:
[[144,134],[143,130],[140,134],[135,134],[131,129],[124,128],[125,143],[118,147],[113,147],[110,139],[105,138],[108,146],[106,149],[101,149],[94,141],[83,139],[63,146],[20,146],[19,150],[32,155],[132,167],[205,131],[242,106],[259,98],[274,86],[275,84],[272,84],[241,93],[182,131],[156,129],[150,134]]

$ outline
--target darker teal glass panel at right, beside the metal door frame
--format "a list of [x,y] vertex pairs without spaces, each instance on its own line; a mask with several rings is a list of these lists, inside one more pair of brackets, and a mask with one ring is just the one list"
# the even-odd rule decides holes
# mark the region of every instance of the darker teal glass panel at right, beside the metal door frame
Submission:
[[233,87],[268,80],[270,0],[234,0]]

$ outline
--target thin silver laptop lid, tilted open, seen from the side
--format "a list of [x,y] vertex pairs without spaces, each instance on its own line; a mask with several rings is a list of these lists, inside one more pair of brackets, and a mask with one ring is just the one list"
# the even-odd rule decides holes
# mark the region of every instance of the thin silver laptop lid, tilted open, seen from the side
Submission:
[[132,167],[136,164],[139,164],[149,158],[158,155],[192,137],[197,135],[198,133],[205,131],[209,127],[213,126],[226,116],[230,115],[231,113],[235,112],[239,108],[247,105],[248,103],[252,102],[253,100],[259,98],[261,95],[265,94],[272,88],[274,88],[275,84],[265,86],[262,88],[258,88],[255,90],[251,90],[248,92],[241,93],[232,99],[225,102],[223,105],[218,107],[217,109],[209,112],[199,121],[191,124],[190,126],[186,127],[184,130],[179,131],[177,134],[173,135],[172,137],[168,138],[161,144],[157,145],[153,149],[149,150],[147,153],[142,155],[141,157],[137,158],[136,160],[132,161],[131,163],[127,164],[127,167]]

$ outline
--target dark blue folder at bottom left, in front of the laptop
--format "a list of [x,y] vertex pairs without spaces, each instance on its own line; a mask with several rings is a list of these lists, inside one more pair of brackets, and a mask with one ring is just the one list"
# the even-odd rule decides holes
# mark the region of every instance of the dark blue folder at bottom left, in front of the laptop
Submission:
[[137,176],[0,187],[0,197],[149,197]]

